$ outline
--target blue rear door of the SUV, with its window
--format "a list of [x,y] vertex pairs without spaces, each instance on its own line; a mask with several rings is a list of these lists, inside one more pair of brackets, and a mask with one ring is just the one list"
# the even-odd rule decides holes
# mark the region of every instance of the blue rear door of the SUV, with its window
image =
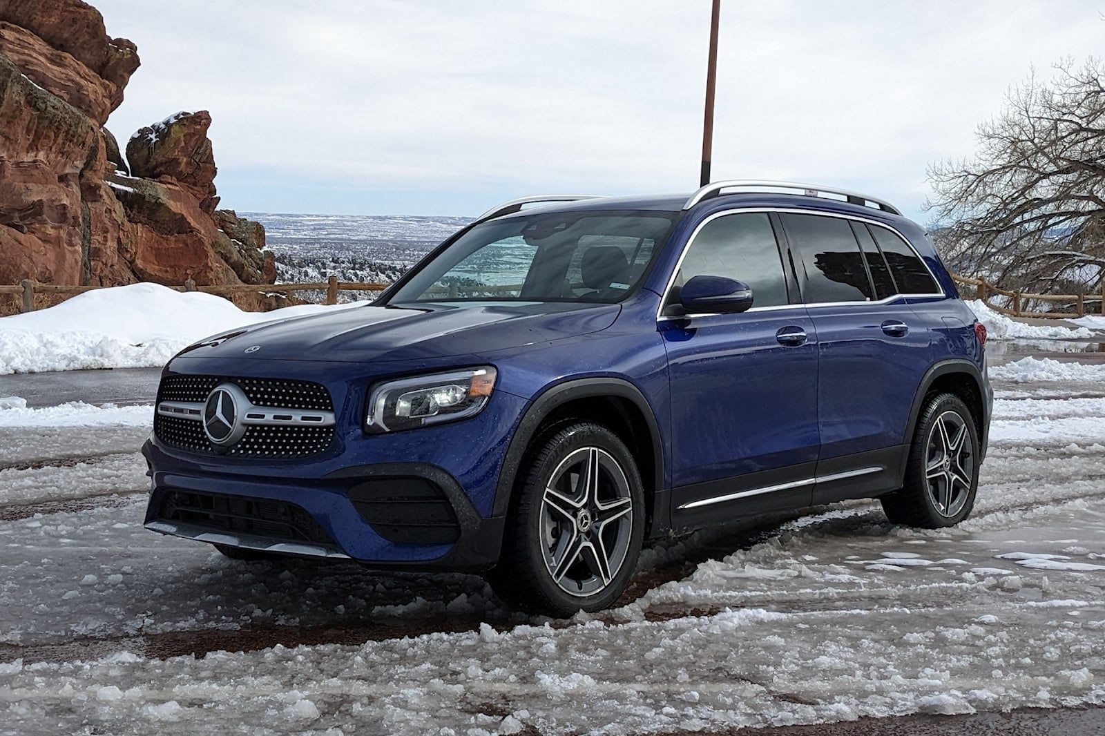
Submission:
[[929,365],[928,329],[899,294],[867,223],[828,214],[780,219],[818,334],[814,502],[884,490],[904,458],[903,432]]

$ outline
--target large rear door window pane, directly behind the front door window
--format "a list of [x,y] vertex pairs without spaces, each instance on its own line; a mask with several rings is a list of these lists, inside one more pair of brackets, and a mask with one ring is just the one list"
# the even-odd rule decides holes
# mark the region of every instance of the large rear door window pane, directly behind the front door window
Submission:
[[874,296],[852,225],[841,218],[782,214],[802,298],[822,302],[867,302]]

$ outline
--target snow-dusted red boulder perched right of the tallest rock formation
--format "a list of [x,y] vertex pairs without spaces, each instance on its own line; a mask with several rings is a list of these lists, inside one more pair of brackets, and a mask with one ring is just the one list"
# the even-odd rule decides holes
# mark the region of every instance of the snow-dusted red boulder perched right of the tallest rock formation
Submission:
[[211,115],[207,111],[177,113],[139,129],[127,141],[130,172],[148,179],[171,179],[190,190],[200,209],[214,212],[214,153],[207,137]]

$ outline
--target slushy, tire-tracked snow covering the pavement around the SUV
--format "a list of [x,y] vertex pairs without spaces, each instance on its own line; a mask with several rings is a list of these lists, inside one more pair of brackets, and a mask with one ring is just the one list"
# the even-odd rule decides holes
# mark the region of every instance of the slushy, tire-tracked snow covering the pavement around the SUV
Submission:
[[[474,576],[242,562],[151,534],[145,427],[0,425],[0,734],[624,734],[1105,704],[1098,368],[991,369],[994,441],[959,527],[852,502],[699,533],[646,551],[635,600],[565,622],[504,610]],[[312,643],[251,644],[274,631]]]

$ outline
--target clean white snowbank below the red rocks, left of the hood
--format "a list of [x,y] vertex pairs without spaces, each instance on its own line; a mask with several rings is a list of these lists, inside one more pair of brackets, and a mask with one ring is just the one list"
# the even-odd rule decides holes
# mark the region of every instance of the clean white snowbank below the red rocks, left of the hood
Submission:
[[366,304],[243,312],[221,296],[158,284],[97,288],[49,309],[0,317],[0,375],[164,366],[188,345],[235,327]]

